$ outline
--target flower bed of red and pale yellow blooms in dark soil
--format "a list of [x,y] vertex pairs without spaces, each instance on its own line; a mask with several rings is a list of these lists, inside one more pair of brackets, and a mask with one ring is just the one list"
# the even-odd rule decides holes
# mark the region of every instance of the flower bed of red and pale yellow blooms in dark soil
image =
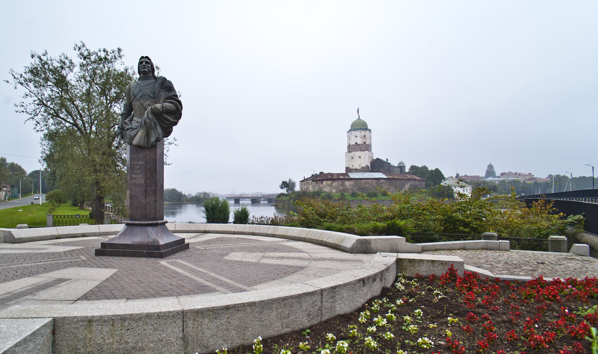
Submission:
[[218,352],[589,354],[597,326],[596,277],[509,282],[451,266],[440,277],[399,275],[357,312]]

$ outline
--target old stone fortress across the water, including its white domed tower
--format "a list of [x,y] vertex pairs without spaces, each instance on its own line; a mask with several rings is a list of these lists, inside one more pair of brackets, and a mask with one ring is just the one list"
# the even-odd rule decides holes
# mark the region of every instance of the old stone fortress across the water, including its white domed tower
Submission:
[[371,134],[368,124],[358,114],[347,130],[344,173],[315,173],[299,182],[300,190],[352,193],[383,188],[393,193],[425,186],[423,178],[405,173],[403,161],[395,166],[388,158],[374,158]]

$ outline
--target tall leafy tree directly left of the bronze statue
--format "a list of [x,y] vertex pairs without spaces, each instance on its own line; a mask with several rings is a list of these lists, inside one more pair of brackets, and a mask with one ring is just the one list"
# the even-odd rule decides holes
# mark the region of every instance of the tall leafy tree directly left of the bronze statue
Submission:
[[124,94],[135,71],[117,49],[74,45],[76,58],[47,51],[31,53],[23,72],[11,70],[15,89],[24,89],[17,112],[43,133],[42,157],[50,178],[78,202],[91,202],[99,218],[106,196],[124,201],[126,150],[114,146]]

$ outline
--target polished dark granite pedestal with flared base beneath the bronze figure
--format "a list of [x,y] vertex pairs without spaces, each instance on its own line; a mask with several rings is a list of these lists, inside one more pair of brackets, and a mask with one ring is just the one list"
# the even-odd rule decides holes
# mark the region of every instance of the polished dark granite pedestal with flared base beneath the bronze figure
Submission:
[[127,211],[129,220],[96,256],[164,258],[189,248],[164,220],[164,142],[151,148],[127,145]]

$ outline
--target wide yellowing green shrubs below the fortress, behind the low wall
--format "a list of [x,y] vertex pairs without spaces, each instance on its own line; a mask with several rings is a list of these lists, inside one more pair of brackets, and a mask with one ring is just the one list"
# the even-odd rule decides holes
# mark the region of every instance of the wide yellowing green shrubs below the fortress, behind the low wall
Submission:
[[346,201],[300,198],[297,213],[287,224],[322,228],[359,235],[400,235],[411,231],[429,233],[481,234],[547,238],[563,234],[567,227],[581,228],[580,215],[565,218],[555,213],[551,203],[536,202],[526,207],[508,196],[485,198],[489,191],[477,188],[470,197],[446,199],[428,190],[392,194],[392,205],[373,203],[351,207]]

